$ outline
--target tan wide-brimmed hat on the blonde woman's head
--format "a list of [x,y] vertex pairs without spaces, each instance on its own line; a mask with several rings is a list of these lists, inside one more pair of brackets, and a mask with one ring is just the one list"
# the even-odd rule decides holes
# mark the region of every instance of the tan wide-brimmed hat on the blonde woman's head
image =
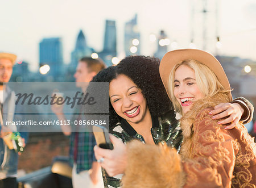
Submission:
[[225,90],[230,91],[229,97],[232,101],[232,94],[230,89],[230,84],[228,77],[226,77],[226,73],[224,72],[224,69],[222,68],[220,62],[210,53],[201,51],[199,49],[177,49],[174,51],[167,52],[163,59],[160,62],[160,76],[162,78],[164,87],[166,88],[167,94],[170,98],[170,89],[168,89],[169,84],[169,76],[171,73],[172,68],[176,64],[181,63],[184,60],[197,60],[201,62],[202,64],[205,64],[210,68],[217,76],[218,81],[220,81],[221,85],[225,88]]

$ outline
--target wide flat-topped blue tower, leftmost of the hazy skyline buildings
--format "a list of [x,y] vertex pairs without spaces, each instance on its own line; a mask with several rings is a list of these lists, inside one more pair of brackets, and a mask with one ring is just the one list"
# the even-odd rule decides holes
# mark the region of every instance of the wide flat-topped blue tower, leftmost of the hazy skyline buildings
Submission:
[[63,47],[60,37],[44,38],[39,44],[40,65],[48,64],[48,76],[58,80],[63,73]]

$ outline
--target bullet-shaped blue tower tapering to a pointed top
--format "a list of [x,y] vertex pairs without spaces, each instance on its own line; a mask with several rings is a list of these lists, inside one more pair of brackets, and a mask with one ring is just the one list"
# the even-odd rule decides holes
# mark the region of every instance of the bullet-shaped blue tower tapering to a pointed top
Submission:
[[92,55],[93,51],[92,48],[87,46],[85,35],[82,30],[80,30],[79,35],[77,36],[75,49],[71,53],[71,66],[76,68],[77,62],[82,57]]

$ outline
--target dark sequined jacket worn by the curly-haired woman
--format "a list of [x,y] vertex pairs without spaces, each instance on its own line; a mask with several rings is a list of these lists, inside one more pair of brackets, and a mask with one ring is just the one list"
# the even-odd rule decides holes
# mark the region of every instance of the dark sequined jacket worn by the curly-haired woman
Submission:
[[[179,120],[175,118],[174,111],[169,111],[158,118],[152,117],[152,124],[151,133],[155,144],[166,142],[171,147],[179,150],[183,137]],[[110,133],[122,139],[124,143],[133,139],[144,143],[142,135],[139,135],[124,119],[117,123],[113,130],[110,130]],[[102,169],[102,176],[106,188],[121,186],[122,176],[109,177],[104,169]]]

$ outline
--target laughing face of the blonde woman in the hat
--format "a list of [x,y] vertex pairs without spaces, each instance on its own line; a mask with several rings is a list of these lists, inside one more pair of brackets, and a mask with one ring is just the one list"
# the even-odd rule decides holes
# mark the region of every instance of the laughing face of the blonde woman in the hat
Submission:
[[196,84],[195,72],[186,65],[180,65],[175,71],[174,95],[180,102],[184,114],[194,101],[204,97]]

